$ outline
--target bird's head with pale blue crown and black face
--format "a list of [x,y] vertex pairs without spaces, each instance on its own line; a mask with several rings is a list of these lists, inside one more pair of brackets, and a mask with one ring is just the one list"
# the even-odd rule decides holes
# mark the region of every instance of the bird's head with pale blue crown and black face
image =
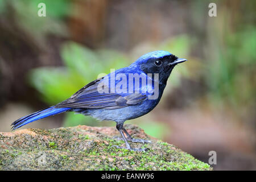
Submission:
[[166,84],[175,65],[187,61],[167,51],[153,51],[139,57],[134,62],[144,73],[158,73],[159,82]]

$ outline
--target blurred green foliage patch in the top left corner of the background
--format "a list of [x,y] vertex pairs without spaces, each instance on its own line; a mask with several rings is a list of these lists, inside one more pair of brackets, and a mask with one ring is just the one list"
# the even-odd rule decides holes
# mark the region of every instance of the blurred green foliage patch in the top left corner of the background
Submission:
[[[47,5],[47,14],[44,18],[35,16],[38,14],[38,5],[41,2]],[[43,41],[43,36],[47,33],[58,35],[67,34],[61,20],[69,15],[71,12],[70,9],[71,2],[68,0],[0,0],[0,14],[7,14],[7,11],[13,11],[15,22],[40,41]]]

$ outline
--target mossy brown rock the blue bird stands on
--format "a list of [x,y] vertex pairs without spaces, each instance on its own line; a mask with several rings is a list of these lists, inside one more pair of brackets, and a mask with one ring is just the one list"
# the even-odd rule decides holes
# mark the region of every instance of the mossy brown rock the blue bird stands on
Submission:
[[146,152],[112,147],[125,146],[115,127],[76,126],[52,130],[24,129],[0,133],[0,170],[212,170],[203,162],[126,125],[134,138],[152,143],[131,143]]

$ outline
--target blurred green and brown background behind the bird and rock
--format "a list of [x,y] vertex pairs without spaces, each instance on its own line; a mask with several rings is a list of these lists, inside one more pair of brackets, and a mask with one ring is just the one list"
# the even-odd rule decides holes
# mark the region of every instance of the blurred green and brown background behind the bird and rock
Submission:
[[[38,4],[46,3],[46,17]],[[208,15],[209,3],[217,16]],[[159,105],[127,121],[214,169],[256,169],[256,1],[0,0],[0,131],[110,69],[163,49],[178,65]],[[65,113],[27,127],[114,126]]]

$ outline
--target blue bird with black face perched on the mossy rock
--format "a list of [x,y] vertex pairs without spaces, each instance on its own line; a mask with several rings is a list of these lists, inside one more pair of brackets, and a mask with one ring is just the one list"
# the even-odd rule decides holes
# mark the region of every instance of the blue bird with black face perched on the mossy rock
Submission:
[[187,60],[179,59],[167,51],[146,53],[129,67],[117,69],[90,82],[67,100],[17,119],[11,124],[12,129],[51,115],[75,111],[101,121],[115,121],[122,136],[118,139],[123,139],[126,143],[126,147],[115,147],[143,151],[143,148],[132,148],[127,141],[150,141],[132,138],[123,123],[147,114],[158,105],[172,69],[184,61]]

